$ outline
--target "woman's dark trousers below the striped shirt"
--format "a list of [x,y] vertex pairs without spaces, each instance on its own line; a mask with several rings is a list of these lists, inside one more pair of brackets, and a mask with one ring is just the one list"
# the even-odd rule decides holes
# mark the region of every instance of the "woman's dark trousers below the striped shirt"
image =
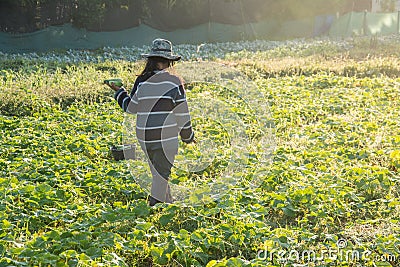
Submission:
[[153,182],[151,196],[161,202],[172,202],[168,185],[177,149],[146,149]]

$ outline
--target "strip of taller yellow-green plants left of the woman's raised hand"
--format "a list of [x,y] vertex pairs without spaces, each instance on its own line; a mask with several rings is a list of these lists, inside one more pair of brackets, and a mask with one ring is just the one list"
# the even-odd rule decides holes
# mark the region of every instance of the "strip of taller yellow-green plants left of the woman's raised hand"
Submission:
[[69,107],[73,103],[110,101],[109,90],[103,85],[107,78],[118,75],[125,81],[135,79],[131,71],[138,64],[115,66],[104,62],[96,65],[65,64],[6,60],[1,62],[0,113],[8,116],[32,115],[44,107]]

